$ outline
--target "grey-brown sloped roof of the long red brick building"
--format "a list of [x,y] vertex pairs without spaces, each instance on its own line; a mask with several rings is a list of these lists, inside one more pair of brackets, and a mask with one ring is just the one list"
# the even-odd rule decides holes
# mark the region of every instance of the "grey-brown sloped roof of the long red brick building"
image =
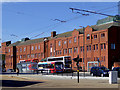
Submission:
[[[98,30],[104,30],[104,29],[110,28],[111,26],[120,26],[120,24],[112,22],[112,23],[107,23],[107,24],[102,24],[102,25],[93,25],[90,27],[93,28],[93,30],[98,31]],[[79,34],[82,34],[83,28],[77,29],[77,31],[79,31]],[[54,38],[70,37],[70,36],[72,36],[72,32],[73,31],[57,34]],[[51,37],[46,37],[46,38],[48,38],[48,40],[51,39]],[[30,45],[33,43],[39,43],[39,42],[43,42],[43,41],[44,41],[44,38],[38,38],[38,39],[27,40],[27,41],[17,41],[13,44],[10,44],[9,46]]]

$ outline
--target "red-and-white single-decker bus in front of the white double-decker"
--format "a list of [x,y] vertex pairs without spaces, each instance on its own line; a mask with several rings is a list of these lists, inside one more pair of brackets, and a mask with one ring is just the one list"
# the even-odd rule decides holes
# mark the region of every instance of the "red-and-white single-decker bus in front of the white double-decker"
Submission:
[[39,62],[38,71],[49,73],[63,72],[63,62]]

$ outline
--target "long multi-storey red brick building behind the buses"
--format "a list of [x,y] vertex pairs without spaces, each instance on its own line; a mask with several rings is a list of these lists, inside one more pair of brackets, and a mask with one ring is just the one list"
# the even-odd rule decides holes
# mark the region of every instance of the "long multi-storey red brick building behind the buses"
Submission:
[[[6,69],[15,69],[16,63],[23,59],[37,58],[40,61],[50,56],[71,56],[73,59],[77,55],[82,58],[80,66],[85,65],[88,71],[94,64],[111,69],[114,62],[120,61],[120,26],[108,17],[82,29],[62,34],[53,31],[51,37],[25,38],[3,46],[3,52],[6,54]],[[73,60],[72,66],[76,69]]]

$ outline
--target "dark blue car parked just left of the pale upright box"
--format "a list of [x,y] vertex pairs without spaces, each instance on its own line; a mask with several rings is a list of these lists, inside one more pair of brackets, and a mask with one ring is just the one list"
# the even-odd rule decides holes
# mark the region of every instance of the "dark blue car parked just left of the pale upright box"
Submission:
[[106,67],[92,67],[90,70],[92,76],[109,76],[109,69]]

